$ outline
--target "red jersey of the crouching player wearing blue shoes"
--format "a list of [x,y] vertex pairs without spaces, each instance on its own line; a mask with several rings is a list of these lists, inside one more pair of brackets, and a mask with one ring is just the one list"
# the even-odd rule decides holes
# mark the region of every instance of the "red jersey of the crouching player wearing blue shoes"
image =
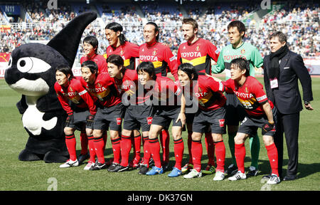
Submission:
[[182,91],[180,85],[171,78],[157,76],[153,88],[150,89],[154,100],[159,101],[159,105],[178,105],[178,96]]

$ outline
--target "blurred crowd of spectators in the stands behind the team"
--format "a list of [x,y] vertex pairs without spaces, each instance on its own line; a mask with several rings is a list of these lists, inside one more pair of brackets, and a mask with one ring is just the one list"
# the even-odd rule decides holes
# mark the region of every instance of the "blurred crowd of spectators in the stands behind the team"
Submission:
[[[68,21],[77,16],[77,13],[86,11],[89,8],[80,7],[78,12],[72,9],[69,4],[61,4],[58,10],[49,10],[45,3],[23,4],[28,13],[28,21],[16,23],[11,26],[11,30],[0,30],[0,53],[11,52],[16,46],[30,41],[50,41]],[[141,45],[144,43],[142,29],[144,23],[154,21],[160,27],[160,40],[171,47],[174,54],[178,51],[178,46],[184,42],[181,32],[181,20],[183,15],[178,7],[175,12],[155,11],[156,8],[148,9],[142,6],[144,18],[136,12],[137,5],[132,7],[124,6],[120,12],[114,12],[102,5],[103,13],[101,19],[97,19],[87,27],[83,38],[88,35],[95,35],[100,42],[99,53],[105,53],[108,46],[105,38],[105,26],[107,23],[116,21],[124,27],[124,36],[128,41]],[[295,6],[288,4],[282,9],[271,12],[264,16],[261,22],[255,22],[248,18],[254,6],[233,6],[232,9],[216,12],[218,6],[209,7],[207,11],[200,12],[197,8],[187,9],[188,16],[196,19],[199,25],[199,37],[213,42],[218,48],[223,48],[228,44],[227,25],[235,19],[243,21],[247,26],[245,41],[257,46],[262,56],[270,53],[268,48],[268,35],[272,31],[282,31],[287,33],[289,48],[302,56],[319,56],[320,36],[319,36],[319,6],[300,4]],[[3,24],[4,18],[0,12],[0,22]],[[30,24],[32,23],[32,24]],[[29,26],[28,26],[29,25]],[[33,25],[33,26],[30,26]],[[79,52],[82,53],[80,46]]]

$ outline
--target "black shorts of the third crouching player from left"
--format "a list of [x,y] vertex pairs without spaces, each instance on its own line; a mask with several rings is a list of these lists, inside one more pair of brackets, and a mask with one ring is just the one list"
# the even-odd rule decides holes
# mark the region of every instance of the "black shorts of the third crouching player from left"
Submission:
[[154,106],[151,105],[129,105],[124,114],[123,128],[125,130],[140,130],[147,132],[154,117]]

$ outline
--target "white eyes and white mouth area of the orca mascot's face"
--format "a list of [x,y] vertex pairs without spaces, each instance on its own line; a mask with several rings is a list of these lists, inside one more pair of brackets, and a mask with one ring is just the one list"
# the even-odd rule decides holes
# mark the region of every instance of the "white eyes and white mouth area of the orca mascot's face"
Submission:
[[[9,60],[8,68],[11,68],[12,58]],[[35,57],[23,57],[19,58],[16,63],[16,68],[21,73],[42,73],[51,68],[51,65],[39,58]],[[49,85],[42,78],[36,80],[27,80],[21,78],[16,83],[9,85],[12,89],[18,93],[27,96],[42,96],[46,95],[49,91]]]

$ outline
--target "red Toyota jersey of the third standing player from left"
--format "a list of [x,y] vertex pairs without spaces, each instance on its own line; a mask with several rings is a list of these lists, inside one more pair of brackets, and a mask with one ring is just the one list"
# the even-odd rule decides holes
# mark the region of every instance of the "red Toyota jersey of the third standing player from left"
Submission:
[[144,43],[139,48],[139,62],[151,61],[157,76],[166,76],[166,67],[169,66],[174,80],[178,80],[178,63],[176,56],[171,52],[169,46],[155,42],[151,46]]

